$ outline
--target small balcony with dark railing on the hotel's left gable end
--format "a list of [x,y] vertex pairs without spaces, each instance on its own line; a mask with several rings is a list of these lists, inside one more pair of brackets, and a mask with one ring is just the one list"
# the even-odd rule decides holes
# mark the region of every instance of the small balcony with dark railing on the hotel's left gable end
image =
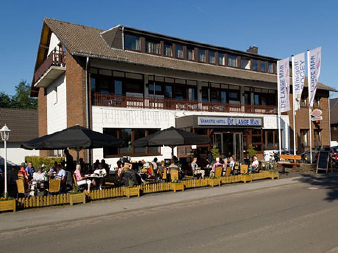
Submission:
[[53,50],[35,71],[34,86],[47,87],[65,71],[65,52]]

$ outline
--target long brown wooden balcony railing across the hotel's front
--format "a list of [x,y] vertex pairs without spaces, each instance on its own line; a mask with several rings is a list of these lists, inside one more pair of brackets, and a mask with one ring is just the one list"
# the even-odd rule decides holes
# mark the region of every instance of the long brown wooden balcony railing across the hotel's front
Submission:
[[254,113],[277,114],[275,106],[256,106],[235,103],[214,103],[202,101],[176,100],[169,98],[135,97],[114,94],[93,94],[93,106],[202,111],[202,112],[226,112],[226,113]]

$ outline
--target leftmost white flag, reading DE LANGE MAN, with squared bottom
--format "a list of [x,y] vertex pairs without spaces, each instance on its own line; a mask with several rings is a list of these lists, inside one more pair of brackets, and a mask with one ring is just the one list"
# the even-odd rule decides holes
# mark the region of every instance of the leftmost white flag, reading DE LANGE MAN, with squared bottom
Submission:
[[290,110],[290,65],[289,58],[277,61],[278,106],[280,112]]

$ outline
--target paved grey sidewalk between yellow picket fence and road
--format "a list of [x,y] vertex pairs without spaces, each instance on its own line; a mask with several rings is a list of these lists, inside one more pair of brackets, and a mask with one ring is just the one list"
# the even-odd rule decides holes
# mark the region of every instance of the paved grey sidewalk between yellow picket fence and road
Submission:
[[[318,177],[318,175],[312,175]],[[330,175],[328,177],[334,177]],[[319,176],[322,177],[322,176]],[[327,177],[327,176],[326,176]],[[31,227],[45,226],[67,221],[88,219],[113,213],[120,213],[138,209],[146,209],[154,206],[169,205],[184,201],[210,198],[225,194],[238,193],[243,191],[259,190],[269,187],[283,186],[300,182],[302,177],[294,177],[280,180],[264,180],[246,184],[223,185],[214,188],[191,189],[184,192],[167,192],[149,194],[141,198],[124,200],[108,200],[92,202],[85,205],[62,206],[53,208],[36,208],[16,213],[0,214],[0,233],[12,230],[19,230]]]

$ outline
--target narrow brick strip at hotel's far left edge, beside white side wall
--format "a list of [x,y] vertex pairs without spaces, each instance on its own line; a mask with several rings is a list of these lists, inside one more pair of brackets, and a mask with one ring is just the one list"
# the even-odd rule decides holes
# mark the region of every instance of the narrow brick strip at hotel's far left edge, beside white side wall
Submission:
[[[38,95],[38,122],[39,122],[39,137],[47,134],[47,97],[45,89],[39,88]],[[40,150],[40,156],[48,156],[48,150]]]

